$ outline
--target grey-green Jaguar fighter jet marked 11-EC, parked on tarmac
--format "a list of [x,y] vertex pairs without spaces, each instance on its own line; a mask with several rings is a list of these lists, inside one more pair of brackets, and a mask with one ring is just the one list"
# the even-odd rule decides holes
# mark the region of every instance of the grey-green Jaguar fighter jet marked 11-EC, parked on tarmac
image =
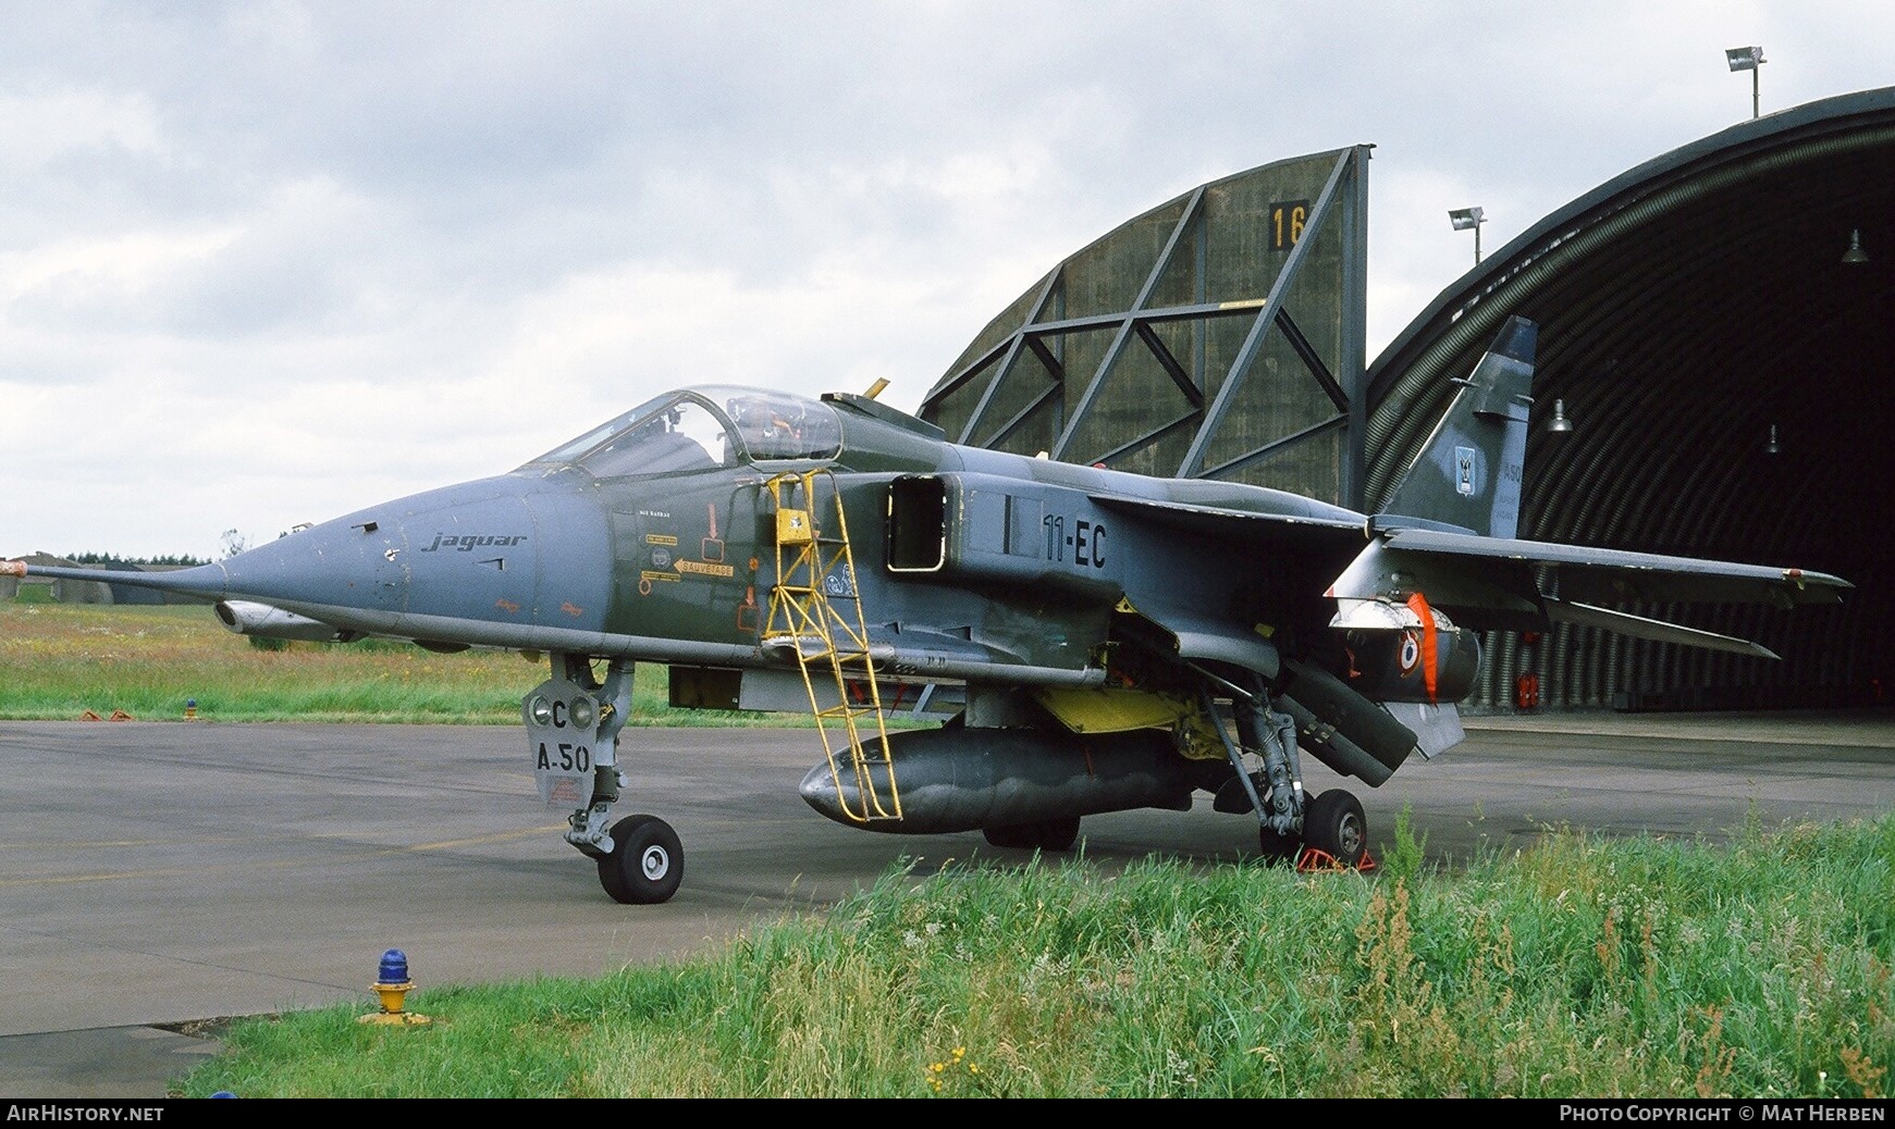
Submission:
[[1567,621],[1774,657],[1611,604],[1850,587],[1520,540],[1535,337],[1501,330],[1378,513],[963,447],[874,394],[697,386],[214,564],[0,572],[188,593],[244,635],[544,655],[523,758],[623,904],[684,873],[665,820],[614,820],[641,661],[677,705],[815,716],[802,796],[853,828],[1065,851],[1088,815],[1207,794],[1264,858],[1361,866],[1361,801],[1306,794],[1302,756],[1374,788],[1452,748],[1478,633]]

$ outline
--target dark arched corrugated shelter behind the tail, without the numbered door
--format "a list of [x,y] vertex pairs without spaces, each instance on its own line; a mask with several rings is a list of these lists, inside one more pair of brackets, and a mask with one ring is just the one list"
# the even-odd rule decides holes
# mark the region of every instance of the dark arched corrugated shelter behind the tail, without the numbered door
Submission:
[[[1851,237],[1867,261],[1844,261]],[[1444,290],[1368,367],[1370,508],[1508,314],[1541,326],[1522,536],[1800,564],[1857,591],[1831,614],[1700,619],[1781,665],[1590,631],[1518,654],[1497,640],[1493,701],[1525,669],[1548,705],[1815,705],[1887,686],[1895,87],[1647,161]],[[1556,402],[1571,434],[1544,430]]]

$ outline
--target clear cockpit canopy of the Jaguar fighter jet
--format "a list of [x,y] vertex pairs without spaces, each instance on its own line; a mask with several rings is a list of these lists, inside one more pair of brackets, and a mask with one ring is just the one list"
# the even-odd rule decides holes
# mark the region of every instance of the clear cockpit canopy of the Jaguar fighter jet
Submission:
[[527,466],[574,462],[593,477],[623,477],[745,462],[821,462],[838,451],[841,421],[828,403],[713,385],[646,400]]

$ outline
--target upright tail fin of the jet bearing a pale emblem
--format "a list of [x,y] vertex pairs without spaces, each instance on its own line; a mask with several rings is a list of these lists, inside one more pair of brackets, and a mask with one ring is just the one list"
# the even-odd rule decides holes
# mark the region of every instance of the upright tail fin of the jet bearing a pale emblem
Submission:
[[1533,403],[1539,326],[1510,316],[1402,472],[1378,525],[1425,525],[1493,538],[1520,530],[1520,475]]

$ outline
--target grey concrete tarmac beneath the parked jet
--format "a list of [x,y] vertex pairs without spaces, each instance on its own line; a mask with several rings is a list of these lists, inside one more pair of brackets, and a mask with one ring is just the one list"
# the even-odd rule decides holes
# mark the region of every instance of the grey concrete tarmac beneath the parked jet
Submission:
[[[538,803],[525,735],[459,726],[0,722],[0,1097],[157,1099],[218,1021],[356,1002],[385,949],[447,983],[597,976],[821,911],[898,866],[995,851],[877,835],[796,796],[807,729],[633,729],[620,813],[677,828],[684,885],[618,905]],[[1306,760],[1308,786],[1342,786]],[[1471,718],[1469,741],[1349,782],[1381,854],[1406,805],[1442,862],[1560,826],[1719,841],[1895,809],[1895,714]],[[1253,858],[1256,824],[1088,816],[1090,866]]]

